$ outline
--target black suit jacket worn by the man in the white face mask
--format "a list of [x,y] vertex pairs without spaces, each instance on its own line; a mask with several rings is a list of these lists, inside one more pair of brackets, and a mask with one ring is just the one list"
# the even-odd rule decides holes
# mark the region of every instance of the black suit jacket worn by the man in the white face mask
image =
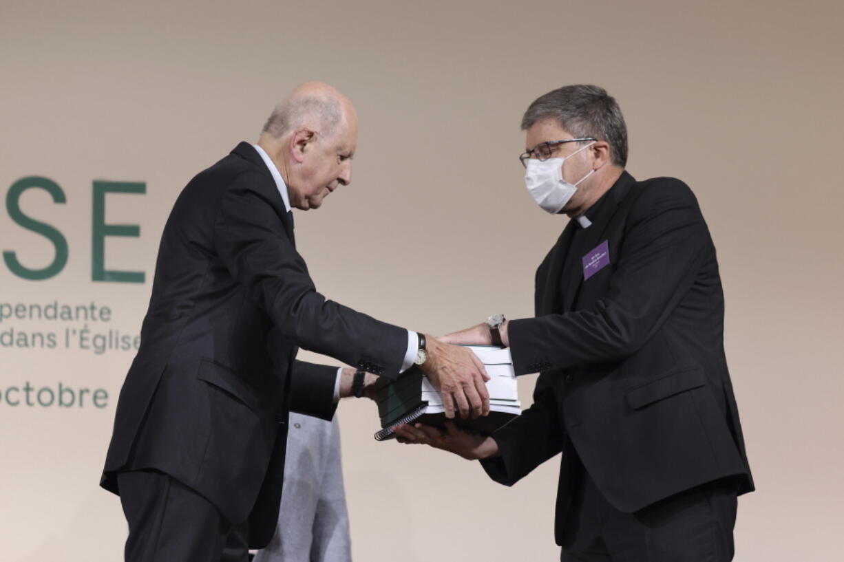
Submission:
[[[723,349],[715,247],[683,182],[624,172],[565,228],[536,273],[536,317],[509,324],[517,374],[540,372],[533,406],[494,436],[491,478],[511,485],[563,451],[557,543],[579,457],[620,511],[717,478],[753,489]],[[608,241],[608,266],[582,257]]]

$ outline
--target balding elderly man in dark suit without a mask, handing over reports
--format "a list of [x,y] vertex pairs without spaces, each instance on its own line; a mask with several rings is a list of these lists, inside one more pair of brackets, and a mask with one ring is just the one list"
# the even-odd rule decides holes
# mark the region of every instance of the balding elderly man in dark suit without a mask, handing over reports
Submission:
[[[268,543],[289,409],[330,419],[364,371],[415,363],[452,415],[489,411],[473,354],[326,300],[296,251],[290,208],[348,185],[356,143],[349,100],[305,84],[176,200],[101,482],[121,496],[127,560],[245,560]],[[360,374],[296,361],[299,346]]]

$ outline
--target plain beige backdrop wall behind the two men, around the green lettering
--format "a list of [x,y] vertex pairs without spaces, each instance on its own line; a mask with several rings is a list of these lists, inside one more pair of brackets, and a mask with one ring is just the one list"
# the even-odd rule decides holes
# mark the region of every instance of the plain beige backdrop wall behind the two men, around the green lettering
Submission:
[[[840,559],[841,29],[837,1],[0,3],[0,191],[68,240],[45,281],[0,262],[0,304],[112,309],[90,330],[136,334],[170,205],[274,102],[320,79],[360,112],[352,186],[296,217],[317,287],[383,320],[446,332],[529,316],[533,272],[565,219],[524,190],[518,124],[538,95],[594,83],[630,129],[630,172],[688,182],[714,236],[727,348],[759,491],[741,498],[736,559]],[[146,284],[91,281],[92,181],[106,264]],[[43,267],[52,246],[0,208],[0,249]],[[493,263],[502,265],[494,266]],[[6,320],[0,332],[84,329]],[[95,325],[96,324],[96,325]],[[97,488],[132,353],[0,347],[0,391],[102,388],[107,407],[0,401],[0,535],[14,562],[116,560],[125,523]],[[529,402],[533,377],[520,381]],[[46,400],[47,395],[44,395]],[[555,459],[506,489],[439,451],[376,444],[370,403],[340,408],[354,557],[553,560]]]

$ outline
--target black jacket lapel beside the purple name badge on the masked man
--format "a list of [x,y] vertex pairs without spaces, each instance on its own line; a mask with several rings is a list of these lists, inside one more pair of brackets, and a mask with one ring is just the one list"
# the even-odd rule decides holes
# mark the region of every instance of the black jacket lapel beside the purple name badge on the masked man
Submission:
[[[597,216],[591,218],[592,226],[584,230],[580,236],[577,236],[579,240],[576,240],[576,244],[571,246],[571,251],[568,252],[569,256],[565,260],[562,278],[563,312],[571,311],[571,306],[574,305],[577,293],[583,283],[583,255],[605,240],[607,226],[612,221],[619,208],[619,203],[624,200],[634,181],[633,176],[630,176],[626,171],[621,174],[619,180],[611,188],[611,192],[607,194],[611,199],[603,205]],[[610,252],[609,259],[614,261],[617,258]]]

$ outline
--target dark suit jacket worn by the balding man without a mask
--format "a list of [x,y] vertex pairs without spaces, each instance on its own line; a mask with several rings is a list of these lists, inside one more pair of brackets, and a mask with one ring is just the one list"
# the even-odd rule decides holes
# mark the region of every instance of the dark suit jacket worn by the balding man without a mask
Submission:
[[251,546],[266,544],[291,398],[333,415],[336,368],[296,362],[297,346],[395,378],[407,332],[317,293],[273,177],[240,143],[187,184],[167,220],[102,485],[119,493],[118,471],[160,470],[233,523],[248,517]]

